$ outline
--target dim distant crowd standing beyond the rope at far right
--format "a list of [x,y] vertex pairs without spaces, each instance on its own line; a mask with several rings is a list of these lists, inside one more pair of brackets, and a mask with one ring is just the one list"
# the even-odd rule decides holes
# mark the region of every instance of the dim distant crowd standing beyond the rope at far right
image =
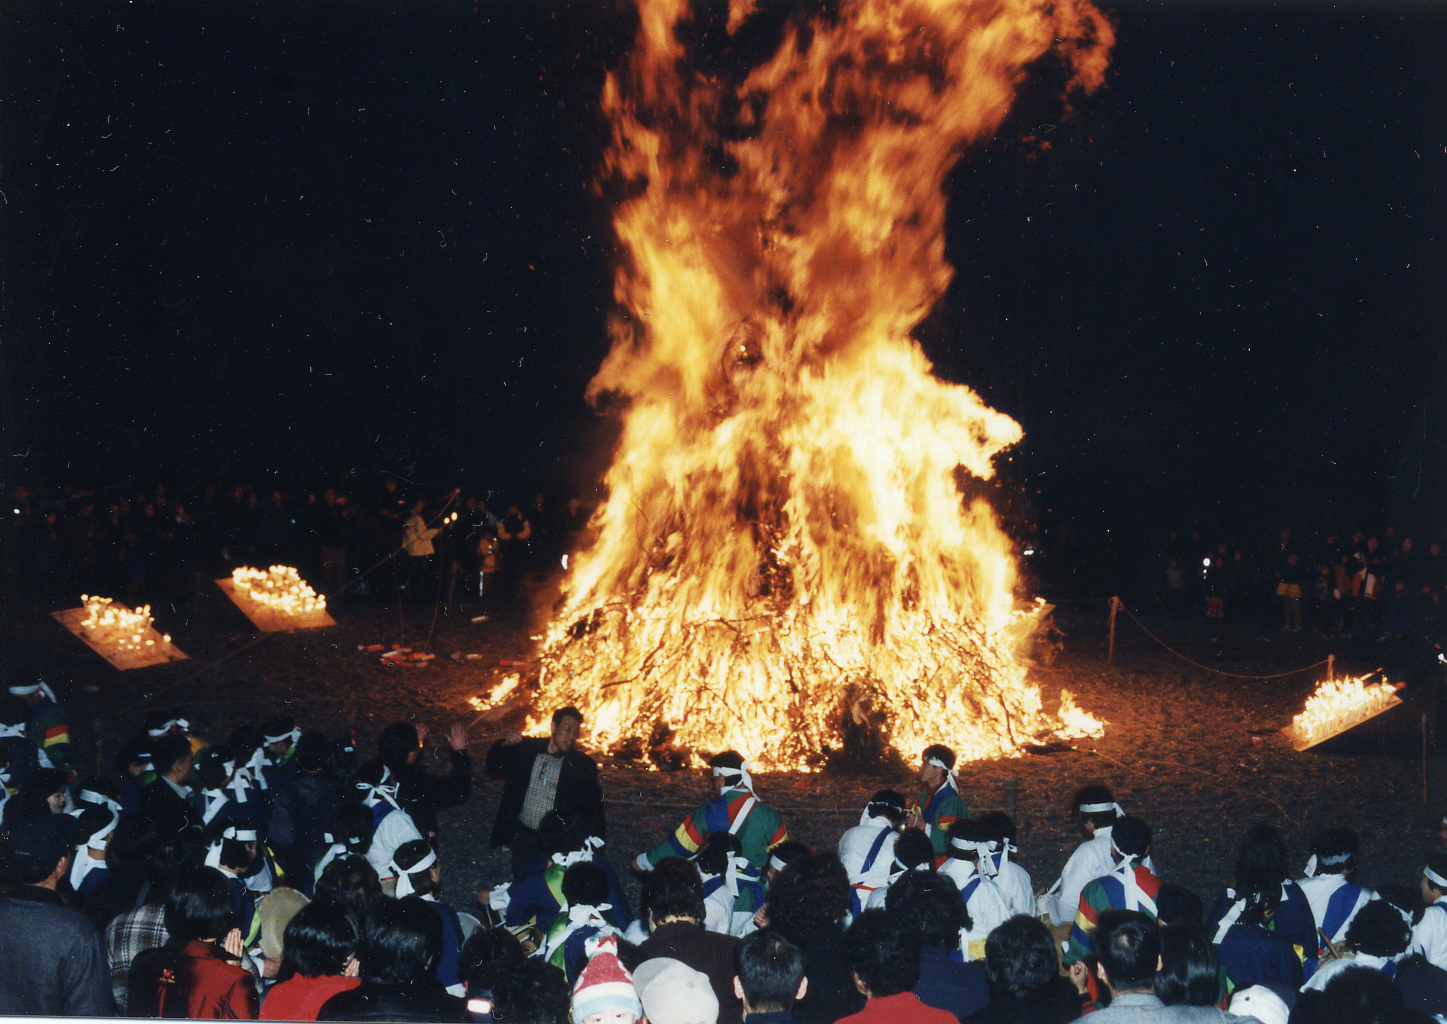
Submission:
[[1275,620],[1321,636],[1404,636],[1444,622],[1443,538],[1327,529],[1282,529],[1263,554],[1200,531],[1171,531],[1143,570],[1140,590],[1172,612],[1213,619]]

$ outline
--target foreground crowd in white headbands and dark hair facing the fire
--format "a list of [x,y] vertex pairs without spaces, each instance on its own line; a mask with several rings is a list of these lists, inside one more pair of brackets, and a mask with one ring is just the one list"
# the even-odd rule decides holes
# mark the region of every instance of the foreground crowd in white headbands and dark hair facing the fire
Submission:
[[[518,772],[530,856],[456,910],[437,811],[472,793],[467,735],[425,769],[428,732],[350,738],[276,716],[208,743],[156,713],[116,774],[75,778],[43,680],[0,714],[0,1014],[508,1024],[1427,1021],[1447,1017],[1447,849],[1418,885],[1357,882],[1350,829],[1301,871],[1269,824],[1240,840],[1210,913],[1162,878],[1152,830],[1108,788],[1036,887],[1003,813],[971,816],[955,755],[926,748],[917,795],[877,791],[838,849],[789,837],[750,764],[709,761],[716,797],[632,869],[603,853],[593,785],[548,767],[582,714],[554,714]],[[522,758],[519,751],[535,756]],[[587,761],[586,755],[576,754]],[[527,778],[522,778],[522,775]],[[509,819],[511,820],[511,819]],[[1440,836],[1447,842],[1447,820]],[[495,833],[495,840],[498,835]],[[517,830],[504,837],[517,853]],[[1236,1014],[1236,1015],[1233,1015]]]

